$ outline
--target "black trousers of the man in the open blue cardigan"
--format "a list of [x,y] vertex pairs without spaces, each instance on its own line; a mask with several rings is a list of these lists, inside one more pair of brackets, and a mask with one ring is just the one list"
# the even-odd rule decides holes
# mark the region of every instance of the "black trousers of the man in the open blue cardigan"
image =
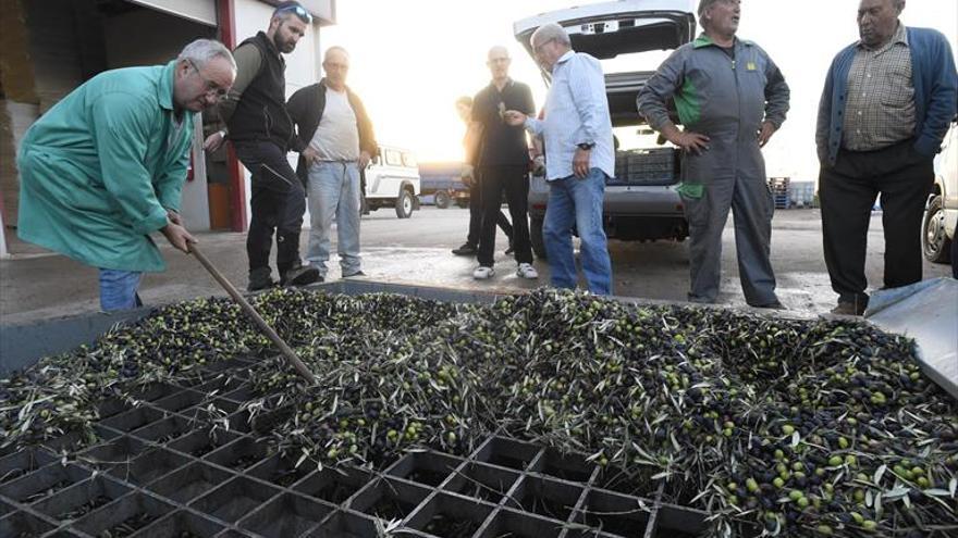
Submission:
[[825,264],[842,302],[868,304],[864,276],[869,221],[881,195],[885,233],[885,287],[921,280],[921,218],[934,184],[933,158],[906,140],[876,151],[840,151],[822,166],[819,196]]

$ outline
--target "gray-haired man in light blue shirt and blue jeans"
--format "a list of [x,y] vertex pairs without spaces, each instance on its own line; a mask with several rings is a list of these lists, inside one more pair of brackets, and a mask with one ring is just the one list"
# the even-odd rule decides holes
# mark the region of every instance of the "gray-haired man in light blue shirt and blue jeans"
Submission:
[[536,59],[552,72],[544,120],[509,110],[509,125],[524,125],[545,140],[549,203],[542,239],[552,285],[576,287],[573,228],[581,239],[582,273],[589,291],[612,293],[612,261],[602,227],[605,179],[615,174],[612,121],[602,65],[572,50],[565,29],[545,24],[532,34]]

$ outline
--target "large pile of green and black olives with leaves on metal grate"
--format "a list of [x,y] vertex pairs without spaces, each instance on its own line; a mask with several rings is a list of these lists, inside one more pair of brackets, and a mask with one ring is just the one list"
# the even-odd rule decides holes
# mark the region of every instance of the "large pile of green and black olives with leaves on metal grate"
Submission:
[[716,536],[958,535],[958,405],[912,341],[868,324],[553,289],[254,300],[315,385],[236,306],[200,299],[0,380],[0,442],[89,433],[107,399],[253,359],[244,409],[270,417],[255,433],[304,464],[382,467],[506,434],[585,455],[610,489],[664,484]]

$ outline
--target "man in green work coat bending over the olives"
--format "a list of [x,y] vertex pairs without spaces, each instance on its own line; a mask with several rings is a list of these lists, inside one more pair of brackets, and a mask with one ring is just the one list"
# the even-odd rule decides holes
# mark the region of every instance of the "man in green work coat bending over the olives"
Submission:
[[102,310],[140,305],[143,273],[165,268],[150,234],[184,252],[195,241],[179,213],[193,120],[235,76],[229,49],[198,39],[167,65],[108,71],[63,98],[20,147],[20,238],[97,267]]

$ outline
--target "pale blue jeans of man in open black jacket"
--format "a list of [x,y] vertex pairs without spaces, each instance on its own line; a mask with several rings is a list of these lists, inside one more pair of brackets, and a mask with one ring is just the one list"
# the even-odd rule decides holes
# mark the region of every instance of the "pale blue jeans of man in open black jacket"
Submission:
[[355,161],[319,161],[309,167],[309,246],[306,261],[326,278],[330,232],[336,221],[336,247],[343,276],[359,272],[359,166]]

